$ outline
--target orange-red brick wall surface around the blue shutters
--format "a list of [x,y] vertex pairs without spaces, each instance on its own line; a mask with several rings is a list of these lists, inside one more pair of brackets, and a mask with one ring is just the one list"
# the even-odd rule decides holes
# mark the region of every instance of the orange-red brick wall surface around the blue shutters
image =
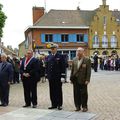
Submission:
[[[40,35],[42,33],[83,33],[83,34],[88,34],[88,30],[85,30],[85,29],[34,29],[33,30],[33,39],[35,40],[35,45],[36,46],[40,46],[42,45],[41,43],[41,37]],[[78,44],[78,43],[69,43],[69,44],[66,44],[66,46],[63,46],[62,43],[59,43],[59,48],[65,48],[65,49],[77,49],[78,47],[83,47],[85,48],[86,52],[85,54],[86,55],[89,55],[89,49],[88,49],[88,46],[85,46],[83,44]],[[44,44],[44,47],[46,48],[46,44]]]

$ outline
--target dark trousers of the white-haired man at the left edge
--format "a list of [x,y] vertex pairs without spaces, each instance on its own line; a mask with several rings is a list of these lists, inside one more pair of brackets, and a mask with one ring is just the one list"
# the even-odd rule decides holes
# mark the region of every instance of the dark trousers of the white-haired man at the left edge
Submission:
[[9,89],[10,85],[8,82],[0,81],[0,99],[1,104],[9,104]]

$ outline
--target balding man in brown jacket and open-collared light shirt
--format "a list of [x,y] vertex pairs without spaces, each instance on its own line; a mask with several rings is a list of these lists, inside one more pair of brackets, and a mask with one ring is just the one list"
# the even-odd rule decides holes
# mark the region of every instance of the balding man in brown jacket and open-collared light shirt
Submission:
[[[74,76],[74,79],[73,77]],[[70,80],[73,83],[74,103],[76,110],[86,112],[88,110],[88,92],[87,85],[90,82],[91,76],[91,61],[84,56],[84,49],[77,49],[77,57],[73,59]]]

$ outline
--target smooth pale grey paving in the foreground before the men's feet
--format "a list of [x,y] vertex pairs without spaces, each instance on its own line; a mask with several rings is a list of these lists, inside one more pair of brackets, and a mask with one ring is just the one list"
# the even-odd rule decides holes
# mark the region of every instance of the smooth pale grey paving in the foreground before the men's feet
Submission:
[[2,115],[0,120],[89,120],[93,115],[95,116],[90,113],[21,108]]

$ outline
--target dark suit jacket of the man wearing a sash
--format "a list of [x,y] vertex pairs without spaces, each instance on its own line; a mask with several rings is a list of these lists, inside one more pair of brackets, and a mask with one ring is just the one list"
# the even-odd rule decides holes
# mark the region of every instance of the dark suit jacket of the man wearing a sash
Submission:
[[[28,63],[26,66],[26,69],[24,69],[24,63],[25,59],[22,60],[21,66],[20,66],[20,73],[22,75],[22,80],[23,79],[30,79],[34,81],[39,81],[40,76],[39,76],[39,61],[36,58],[32,58],[31,61]],[[23,76],[23,73],[29,73],[30,77],[26,78]]]

